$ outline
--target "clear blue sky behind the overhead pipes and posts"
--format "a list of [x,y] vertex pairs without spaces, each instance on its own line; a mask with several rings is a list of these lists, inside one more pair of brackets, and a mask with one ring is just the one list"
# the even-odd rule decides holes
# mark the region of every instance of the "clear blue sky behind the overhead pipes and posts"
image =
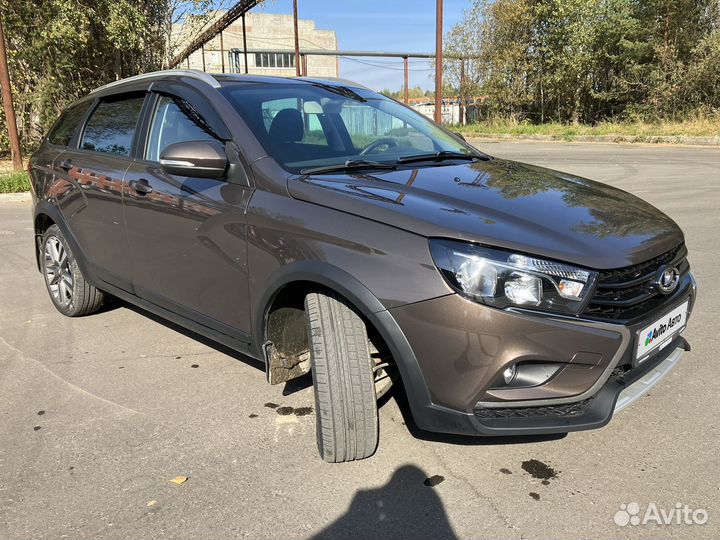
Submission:
[[[471,0],[444,0],[443,31],[462,19]],[[271,0],[253,9],[292,14],[292,0]],[[298,16],[335,30],[340,50],[435,52],[435,0],[298,0]],[[310,74],[312,75],[312,73]],[[401,58],[342,58],[340,76],[376,90],[400,90]],[[410,60],[410,86],[434,87],[427,60]]]

